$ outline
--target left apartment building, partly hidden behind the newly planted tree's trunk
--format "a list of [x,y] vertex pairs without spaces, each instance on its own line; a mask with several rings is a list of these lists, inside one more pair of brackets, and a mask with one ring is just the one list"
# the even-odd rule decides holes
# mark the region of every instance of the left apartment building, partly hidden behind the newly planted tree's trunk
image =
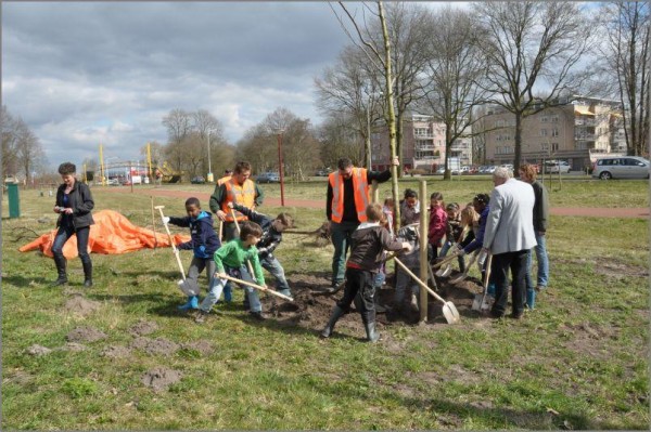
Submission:
[[[403,119],[404,169],[435,171],[445,163],[445,125],[434,121],[432,116],[410,115]],[[371,134],[371,162],[374,170],[384,170],[391,160],[388,133],[383,127]],[[451,157],[459,158],[461,165],[472,163],[472,141],[470,138],[456,140]]]

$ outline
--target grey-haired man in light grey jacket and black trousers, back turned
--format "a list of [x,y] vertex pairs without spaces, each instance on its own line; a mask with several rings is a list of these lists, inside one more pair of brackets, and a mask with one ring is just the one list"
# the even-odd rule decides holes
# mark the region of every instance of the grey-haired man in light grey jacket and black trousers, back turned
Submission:
[[536,246],[533,223],[536,197],[531,184],[512,176],[503,167],[493,173],[495,188],[490,195],[484,249],[493,253],[490,273],[495,283],[495,303],[490,314],[500,318],[507,311],[510,269],[513,278],[511,316],[520,319],[524,313],[527,254]]

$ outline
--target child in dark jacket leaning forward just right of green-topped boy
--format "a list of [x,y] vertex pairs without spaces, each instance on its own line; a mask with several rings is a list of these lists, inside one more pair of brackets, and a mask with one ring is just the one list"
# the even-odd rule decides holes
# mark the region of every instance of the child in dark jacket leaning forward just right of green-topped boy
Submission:
[[263,213],[258,213],[247,207],[239,204],[229,202],[228,207],[238,210],[244,214],[251,222],[255,222],[263,228],[263,237],[258,241],[257,250],[258,258],[263,269],[271,273],[276,278],[276,290],[281,294],[292,297],[290,284],[284,276],[284,269],[280,262],[273,257],[273,251],[282,241],[282,232],[292,227],[293,220],[288,213],[280,213],[276,219],[271,219]]

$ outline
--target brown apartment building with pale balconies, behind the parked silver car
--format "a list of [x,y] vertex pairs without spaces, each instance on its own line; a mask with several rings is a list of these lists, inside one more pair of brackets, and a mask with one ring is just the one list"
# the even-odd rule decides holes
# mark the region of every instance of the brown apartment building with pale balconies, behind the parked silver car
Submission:
[[[522,161],[567,160],[573,170],[591,165],[597,155],[626,152],[618,102],[579,97],[544,109],[522,123]],[[493,107],[484,121],[486,162],[512,163],[515,156],[515,116]]]

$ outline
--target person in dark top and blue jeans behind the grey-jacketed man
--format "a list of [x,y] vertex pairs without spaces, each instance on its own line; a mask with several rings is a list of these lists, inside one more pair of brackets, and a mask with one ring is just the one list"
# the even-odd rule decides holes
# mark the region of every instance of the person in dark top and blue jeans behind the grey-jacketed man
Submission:
[[536,291],[547,288],[549,280],[549,260],[547,258],[547,245],[545,233],[547,232],[547,221],[549,220],[549,196],[542,183],[536,180],[536,167],[531,163],[524,163],[520,167],[520,179],[532,185],[536,202],[534,204],[534,234],[536,236],[536,260],[538,261],[538,273],[536,285],[532,278],[533,252],[529,252],[526,262],[526,305],[534,309],[536,304]]

